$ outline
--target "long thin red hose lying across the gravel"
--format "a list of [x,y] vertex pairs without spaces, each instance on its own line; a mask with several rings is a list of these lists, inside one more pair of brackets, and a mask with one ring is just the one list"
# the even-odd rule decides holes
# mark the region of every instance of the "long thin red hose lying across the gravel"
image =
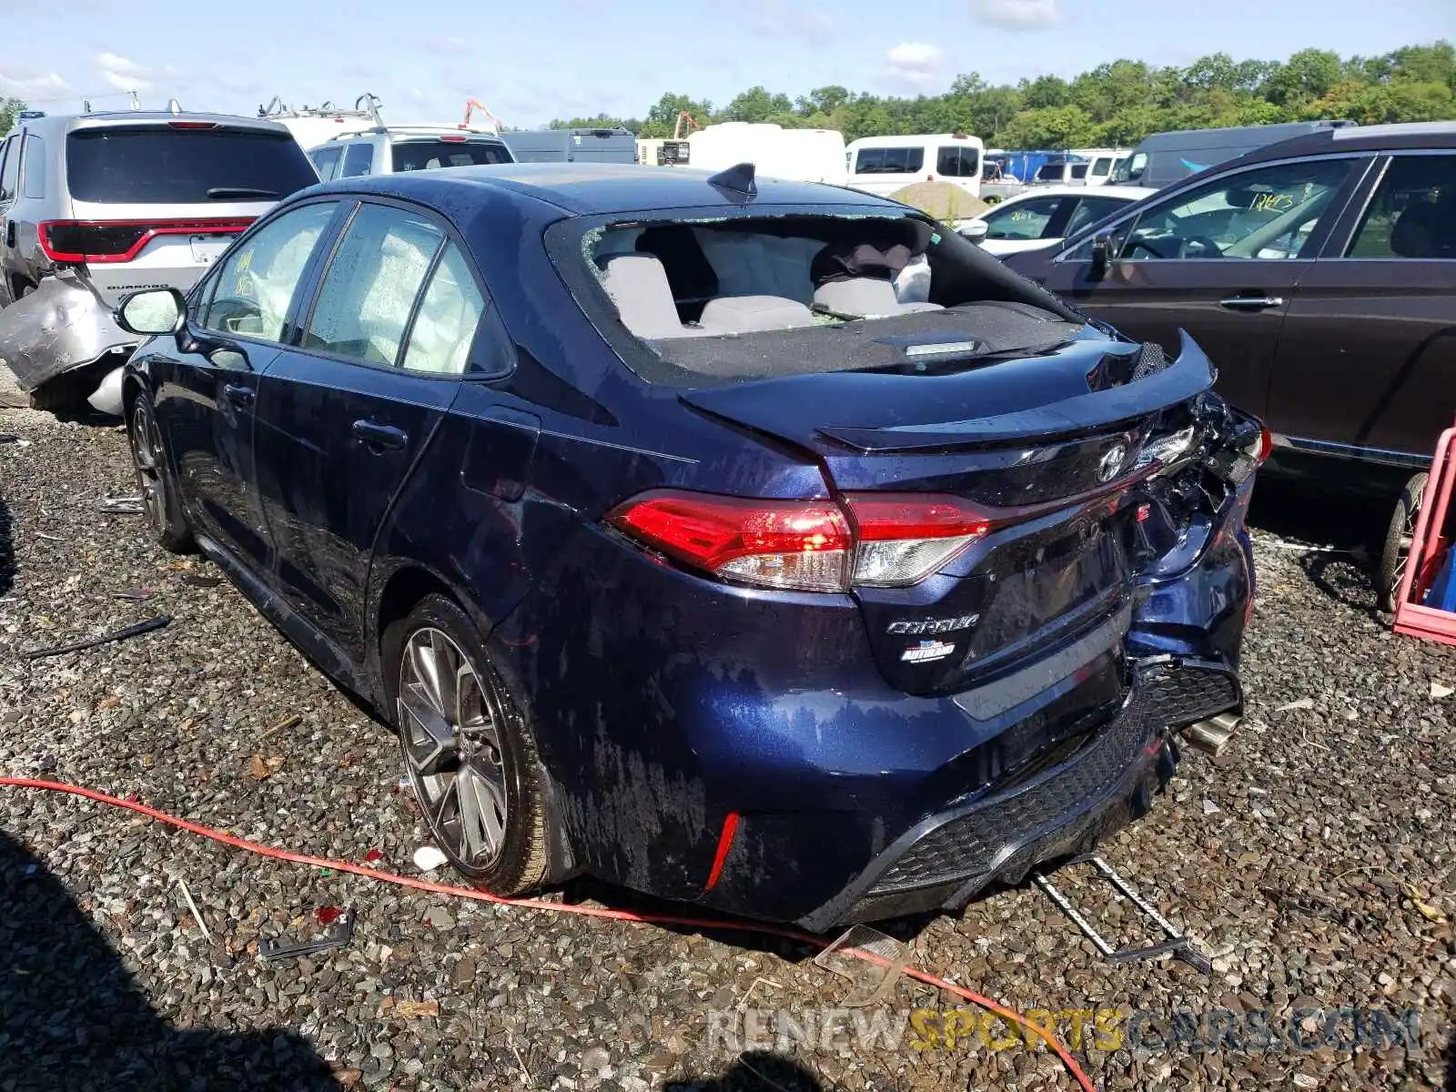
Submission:
[[[96,801],[98,804],[108,804],[114,808],[125,808],[127,811],[135,811],[138,815],[146,815],[147,818],[156,820],[157,823],[165,823],[169,827],[178,827],[189,834],[197,834],[199,837],[211,839],[213,842],[221,842],[224,846],[233,846],[234,849],[245,849],[249,853],[258,853],[265,858],[274,858],[277,860],[288,860],[294,865],[309,865],[310,868],[331,868],[336,872],[352,872],[357,877],[365,877],[367,879],[376,879],[381,884],[397,884],[400,887],[412,887],[416,891],[431,891],[440,895],[456,895],[459,898],[473,898],[479,903],[495,903],[496,906],[515,906],[527,910],[550,910],[558,914],[581,914],[582,917],[604,917],[613,922],[635,922],[638,925],[680,925],[692,929],[718,929],[725,932],[744,932],[744,933],[766,933],[769,936],[783,936],[789,941],[798,941],[801,943],[812,945],[815,948],[827,948],[828,941],[823,936],[814,936],[812,933],[805,933],[799,929],[791,929],[789,926],[770,925],[767,922],[753,922],[753,920],[734,920],[727,917],[690,917],[687,914],[655,914],[655,913],[636,913],[633,910],[606,910],[593,906],[568,906],[565,903],[547,903],[540,898],[501,898],[499,895],[492,895],[488,891],[479,891],[473,887],[451,887],[448,884],[434,884],[428,879],[415,879],[414,877],[400,877],[393,872],[383,872],[377,868],[368,868],[365,865],[355,865],[349,860],[331,860],[329,858],[314,858],[307,853],[293,853],[285,849],[274,849],[272,846],[262,846],[256,842],[249,842],[248,839],[240,839],[236,834],[229,834],[221,830],[213,830],[211,827],[204,827],[201,823],[192,823],[185,818],[178,818],[176,815],[169,815],[157,808],[147,807],[140,801],[122,799],[119,796],[109,796],[105,792],[98,792],[96,789],[84,789],[79,785],[67,785],[58,780],[39,780],[35,778],[0,778],[0,786],[10,786],[16,789],[41,789],[45,792],[64,792],[71,796],[82,796],[84,799]],[[869,952],[863,952],[858,948],[844,949],[846,954],[855,955],[868,962],[882,964],[884,960]],[[1045,1028],[1032,1024],[1026,1016],[1021,1015],[1015,1009],[1008,1009],[1005,1005],[997,1005],[990,997],[983,997],[974,990],[967,990],[961,986],[939,978],[929,971],[922,971],[914,967],[904,967],[903,974],[916,981],[926,983],[927,986],[935,986],[939,990],[946,990],[958,997],[962,997],[973,1005],[978,1005],[987,1012],[994,1012],[1002,1019],[1008,1019],[1013,1024],[1021,1025],[1028,1032],[1038,1035],[1045,1041],[1057,1057],[1061,1059],[1061,1064],[1067,1067],[1073,1079],[1083,1089],[1083,1092],[1096,1092],[1096,1086],[1092,1083],[1092,1077],[1086,1075],[1077,1060],[1072,1057],[1069,1051],[1057,1038]]]

